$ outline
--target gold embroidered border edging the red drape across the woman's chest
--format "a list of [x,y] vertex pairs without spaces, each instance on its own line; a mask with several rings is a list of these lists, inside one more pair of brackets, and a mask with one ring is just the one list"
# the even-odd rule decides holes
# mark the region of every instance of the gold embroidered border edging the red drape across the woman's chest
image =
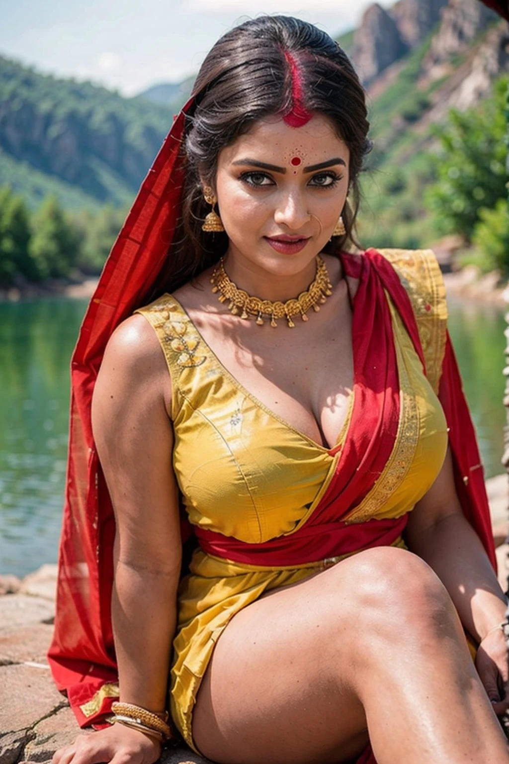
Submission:
[[[391,306],[392,322],[395,325],[396,322],[401,322],[401,319],[391,305],[388,295],[386,296],[389,306]],[[401,331],[404,331],[403,327],[401,327]],[[400,390],[400,414],[395,444],[382,473],[375,481],[369,494],[345,516],[346,523],[362,523],[365,520],[385,516],[383,513],[381,514],[382,507],[388,503],[388,499],[404,481],[415,458],[420,433],[419,408],[398,342],[395,342],[395,348]]]

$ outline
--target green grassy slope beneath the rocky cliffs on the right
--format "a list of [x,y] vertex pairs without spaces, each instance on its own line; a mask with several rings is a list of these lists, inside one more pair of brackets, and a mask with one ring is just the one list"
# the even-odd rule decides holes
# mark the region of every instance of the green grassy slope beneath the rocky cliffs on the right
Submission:
[[430,153],[437,147],[432,110],[449,99],[449,86],[459,67],[472,59],[491,26],[462,55],[452,57],[449,73],[431,82],[423,61],[431,33],[401,61],[398,76],[369,99],[372,154],[362,176],[359,234],[362,245],[416,248],[440,237],[436,217],[426,202],[427,189],[437,180]]

